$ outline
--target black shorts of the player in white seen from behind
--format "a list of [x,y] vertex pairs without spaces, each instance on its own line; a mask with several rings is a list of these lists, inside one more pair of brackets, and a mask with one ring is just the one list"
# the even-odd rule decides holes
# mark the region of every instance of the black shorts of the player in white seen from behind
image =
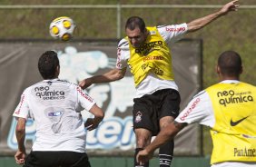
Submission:
[[30,152],[24,167],[91,167],[85,152]]

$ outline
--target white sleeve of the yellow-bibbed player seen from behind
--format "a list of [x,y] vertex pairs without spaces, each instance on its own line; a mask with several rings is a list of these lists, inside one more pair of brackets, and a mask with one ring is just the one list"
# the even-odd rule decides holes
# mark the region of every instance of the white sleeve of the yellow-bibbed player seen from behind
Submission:
[[215,118],[208,93],[202,91],[196,94],[175,121],[178,123],[200,123],[213,127]]

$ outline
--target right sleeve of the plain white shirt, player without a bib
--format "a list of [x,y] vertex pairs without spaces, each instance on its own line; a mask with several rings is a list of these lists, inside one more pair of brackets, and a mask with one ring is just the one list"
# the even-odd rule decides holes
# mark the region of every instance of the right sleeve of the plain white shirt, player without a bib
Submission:
[[92,97],[90,97],[87,93],[84,92],[84,90],[81,89],[81,87],[76,86],[77,91],[77,111],[87,110],[90,111],[93,107],[95,101]]

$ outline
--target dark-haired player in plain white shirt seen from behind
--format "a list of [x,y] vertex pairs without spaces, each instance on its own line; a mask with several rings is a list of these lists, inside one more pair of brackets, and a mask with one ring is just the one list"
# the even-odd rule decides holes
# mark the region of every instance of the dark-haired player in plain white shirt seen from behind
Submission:
[[[15,160],[25,167],[90,167],[85,152],[86,131],[94,130],[103,120],[103,111],[78,85],[58,79],[57,54],[47,51],[38,61],[44,81],[25,89],[13,116],[17,120],[18,151]],[[81,111],[94,114],[84,123]],[[25,123],[35,123],[35,141],[26,157]]]

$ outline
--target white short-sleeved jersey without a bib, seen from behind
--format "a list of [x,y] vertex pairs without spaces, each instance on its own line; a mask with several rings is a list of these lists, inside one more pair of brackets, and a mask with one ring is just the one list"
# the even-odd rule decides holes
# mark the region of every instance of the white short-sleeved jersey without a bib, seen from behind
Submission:
[[44,80],[25,89],[13,116],[34,119],[33,151],[85,152],[81,111],[94,100],[76,84],[59,79]]

